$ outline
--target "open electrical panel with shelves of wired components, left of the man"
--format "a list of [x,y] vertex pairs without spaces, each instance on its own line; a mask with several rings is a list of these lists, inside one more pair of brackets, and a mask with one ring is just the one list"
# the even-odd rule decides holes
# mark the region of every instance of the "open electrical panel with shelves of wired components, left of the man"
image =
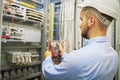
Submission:
[[41,6],[34,0],[3,1],[0,80],[41,79]]

